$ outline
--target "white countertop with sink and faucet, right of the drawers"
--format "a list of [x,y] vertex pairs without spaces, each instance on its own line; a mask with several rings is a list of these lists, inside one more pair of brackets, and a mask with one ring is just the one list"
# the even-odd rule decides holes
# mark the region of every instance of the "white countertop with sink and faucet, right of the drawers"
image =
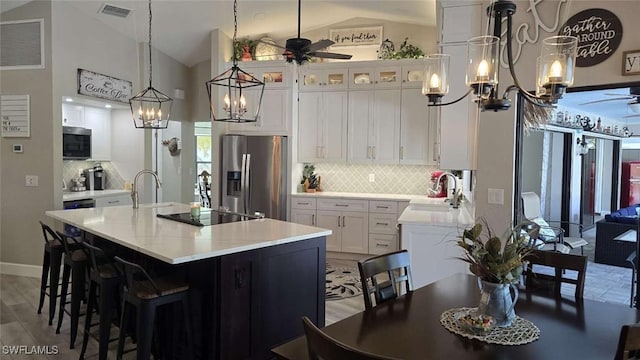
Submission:
[[398,218],[399,224],[440,225],[451,227],[467,227],[474,219],[465,206],[459,209],[430,210],[410,204]]

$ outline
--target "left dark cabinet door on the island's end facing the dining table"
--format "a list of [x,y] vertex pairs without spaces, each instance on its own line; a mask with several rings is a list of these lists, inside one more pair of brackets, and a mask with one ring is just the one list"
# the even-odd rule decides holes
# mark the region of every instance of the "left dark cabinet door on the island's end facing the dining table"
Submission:
[[249,251],[220,258],[220,359],[259,358],[258,301],[252,298],[258,287],[257,255]]

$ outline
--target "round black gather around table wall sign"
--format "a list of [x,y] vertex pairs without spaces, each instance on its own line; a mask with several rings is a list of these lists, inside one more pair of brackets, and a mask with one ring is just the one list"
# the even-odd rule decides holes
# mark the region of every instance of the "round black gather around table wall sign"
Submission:
[[589,67],[608,59],[622,41],[622,23],[609,10],[587,9],[560,27],[560,35],[578,38],[576,66]]

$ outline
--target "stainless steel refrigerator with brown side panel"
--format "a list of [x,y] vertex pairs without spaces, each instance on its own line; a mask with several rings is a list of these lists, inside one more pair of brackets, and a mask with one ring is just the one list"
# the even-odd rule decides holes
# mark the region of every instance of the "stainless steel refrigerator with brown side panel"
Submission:
[[231,211],[287,219],[287,137],[224,135],[220,204]]

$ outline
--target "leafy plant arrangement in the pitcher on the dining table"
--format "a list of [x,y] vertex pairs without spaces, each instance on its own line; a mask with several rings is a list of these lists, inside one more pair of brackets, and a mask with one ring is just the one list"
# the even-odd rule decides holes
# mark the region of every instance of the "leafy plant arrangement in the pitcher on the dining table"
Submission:
[[459,259],[469,263],[469,270],[484,281],[500,284],[518,282],[531,252],[529,234],[516,226],[508,232],[503,245],[502,239],[494,236],[486,222],[483,223],[486,232],[480,223],[464,230],[458,246],[464,249],[465,255]]

